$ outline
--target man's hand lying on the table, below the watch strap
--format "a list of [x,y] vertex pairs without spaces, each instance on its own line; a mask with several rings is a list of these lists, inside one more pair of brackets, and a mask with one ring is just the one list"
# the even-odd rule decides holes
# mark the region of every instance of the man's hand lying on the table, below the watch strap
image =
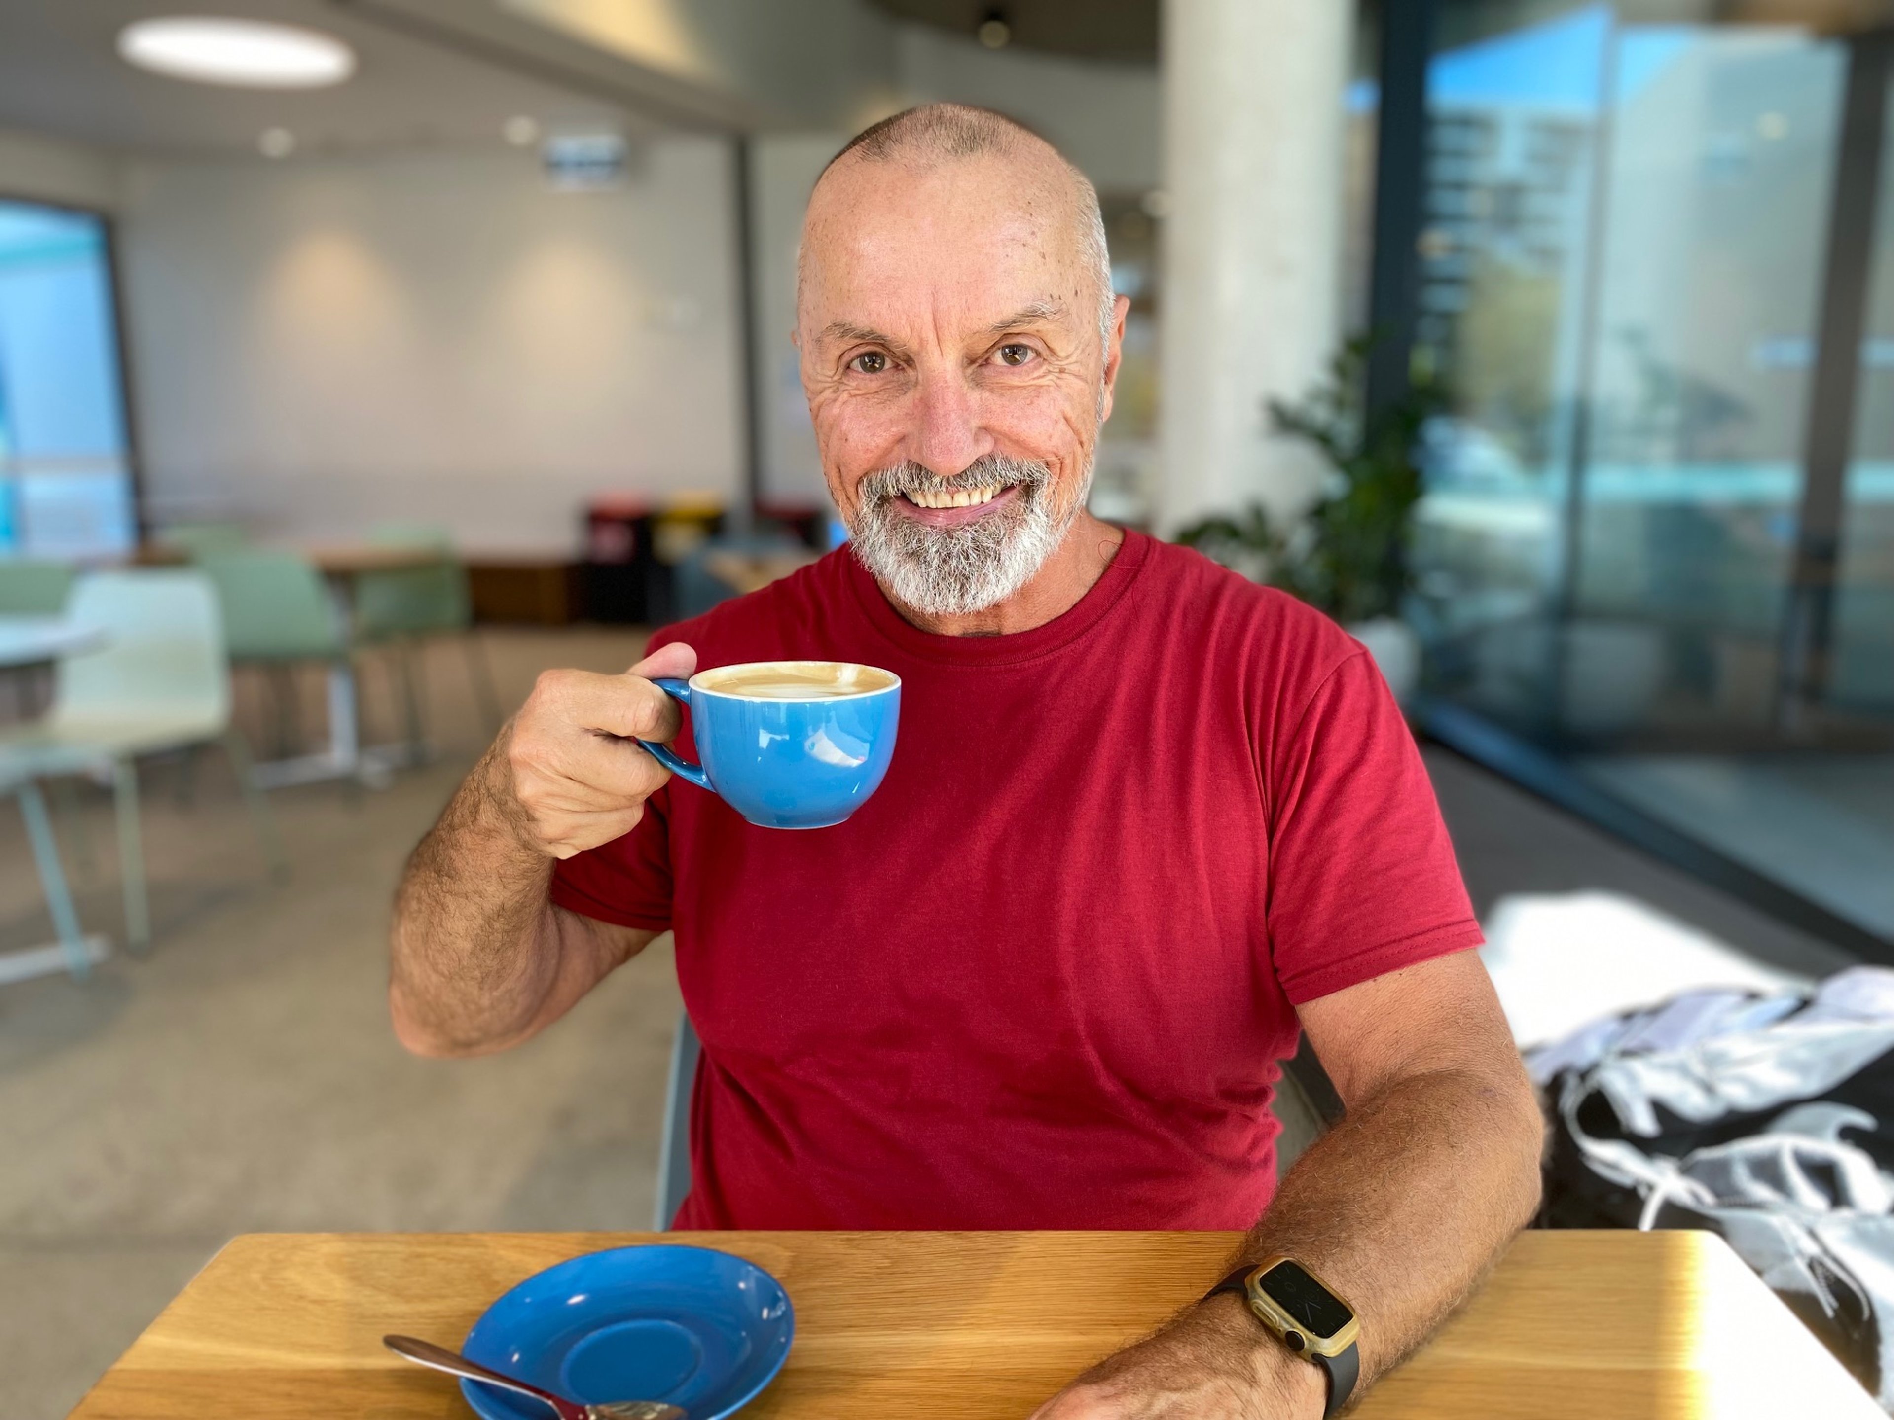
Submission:
[[1032,1420],[1314,1420],[1326,1388],[1225,1295],[1100,1361]]

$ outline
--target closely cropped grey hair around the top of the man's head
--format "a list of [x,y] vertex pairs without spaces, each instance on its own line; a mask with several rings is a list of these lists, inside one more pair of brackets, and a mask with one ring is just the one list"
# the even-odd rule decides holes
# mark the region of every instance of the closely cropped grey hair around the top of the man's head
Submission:
[[[852,204],[860,187],[877,186],[877,169],[902,169],[924,174],[943,165],[977,165],[994,184],[1051,218],[1057,240],[1070,242],[1070,257],[1093,284],[1097,301],[1100,346],[1112,331],[1112,259],[1104,240],[1104,216],[1099,193],[1057,148],[1032,129],[991,108],[970,104],[920,104],[862,129],[850,138],[816,182],[809,199],[809,220],[803,229],[803,248],[797,259],[797,284],[809,275],[811,239],[818,218],[841,199]],[[828,187],[828,191],[824,191]]]

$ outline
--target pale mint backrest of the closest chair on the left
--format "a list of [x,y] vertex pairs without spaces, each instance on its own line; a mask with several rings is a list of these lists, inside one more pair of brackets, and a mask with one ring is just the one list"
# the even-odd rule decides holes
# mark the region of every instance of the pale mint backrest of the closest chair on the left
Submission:
[[104,630],[106,644],[59,663],[55,718],[165,716],[212,733],[229,723],[223,619],[203,574],[91,572],[74,585],[66,615]]

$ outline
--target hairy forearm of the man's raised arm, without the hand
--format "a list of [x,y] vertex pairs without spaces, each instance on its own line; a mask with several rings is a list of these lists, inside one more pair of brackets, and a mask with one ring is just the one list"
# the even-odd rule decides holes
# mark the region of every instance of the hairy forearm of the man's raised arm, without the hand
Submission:
[[511,1043],[559,977],[545,897],[553,863],[509,820],[504,771],[496,744],[415,848],[396,894],[390,1000],[411,1049]]

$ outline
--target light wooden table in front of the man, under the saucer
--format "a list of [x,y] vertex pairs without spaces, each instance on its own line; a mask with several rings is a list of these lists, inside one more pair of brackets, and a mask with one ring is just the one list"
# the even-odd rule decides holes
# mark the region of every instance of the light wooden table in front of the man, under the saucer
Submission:
[[[386,1354],[458,1342],[521,1278],[676,1234],[254,1234],[165,1308],[74,1420],[466,1416]],[[1025,1420],[1214,1280],[1229,1233],[697,1233],[767,1267],[795,1346],[758,1420]],[[1527,1233],[1485,1291],[1360,1405],[1364,1420],[1885,1420],[1706,1233]]]

